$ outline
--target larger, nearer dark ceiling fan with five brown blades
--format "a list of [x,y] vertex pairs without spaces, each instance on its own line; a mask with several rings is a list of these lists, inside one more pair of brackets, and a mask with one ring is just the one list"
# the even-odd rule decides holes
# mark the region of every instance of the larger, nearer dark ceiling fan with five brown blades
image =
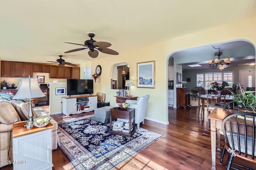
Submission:
[[64,43],[69,43],[69,44],[75,44],[75,45],[80,45],[80,46],[86,46],[86,48],[77,48],[77,49],[74,49],[74,50],[69,50],[69,51],[66,51],[64,53],[68,53],[68,52],[75,52],[75,51],[80,51],[80,50],[84,50],[84,49],[87,49],[89,48],[89,56],[92,57],[92,58],[96,58],[98,57],[98,50],[100,52],[103,52],[103,53],[106,53],[106,54],[111,54],[111,55],[118,55],[119,53],[114,51],[114,50],[111,50],[110,47],[111,44],[109,42],[96,42],[95,40],[93,40],[92,38],[95,36],[94,33],[88,33],[87,34],[89,37],[90,37],[90,40],[86,40],[84,42],[84,44],[76,44],[76,43],[71,43],[71,42],[64,42]]

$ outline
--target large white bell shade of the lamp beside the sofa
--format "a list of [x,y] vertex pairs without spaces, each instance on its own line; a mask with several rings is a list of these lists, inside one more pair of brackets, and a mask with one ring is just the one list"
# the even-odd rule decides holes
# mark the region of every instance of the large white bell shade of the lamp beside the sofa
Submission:
[[26,99],[44,97],[44,93],[38,85],[37,78],[21,78],[18,92],[13,99]]

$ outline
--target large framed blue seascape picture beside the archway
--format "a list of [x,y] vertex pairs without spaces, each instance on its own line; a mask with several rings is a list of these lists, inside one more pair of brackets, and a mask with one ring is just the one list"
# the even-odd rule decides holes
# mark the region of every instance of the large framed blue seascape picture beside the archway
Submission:
[[137,87],[155,88],[155,61],[137,63]]

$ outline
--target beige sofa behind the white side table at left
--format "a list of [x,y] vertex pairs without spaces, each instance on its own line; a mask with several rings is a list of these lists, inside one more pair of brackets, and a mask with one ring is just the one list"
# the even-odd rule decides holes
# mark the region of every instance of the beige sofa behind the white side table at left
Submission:
[[[5,161],[13,161],[12,124],[19,122],[24,122],[25,124],[28,120],[29,112],[28,103],[18,100],[9,100],[10,99],[8,98],[6,100],[0,95],[0,160]],[[33,118],[49,116],[41,107],[33,107],[32,111],[34,113]],[[54,125],[54,128],[52,129],[52,150],[55,150],[57,149],[58,144],[58,124],[54,119],[51,119],[50,122]],[[7,164],[0,164],[0,168],[6,165]]]

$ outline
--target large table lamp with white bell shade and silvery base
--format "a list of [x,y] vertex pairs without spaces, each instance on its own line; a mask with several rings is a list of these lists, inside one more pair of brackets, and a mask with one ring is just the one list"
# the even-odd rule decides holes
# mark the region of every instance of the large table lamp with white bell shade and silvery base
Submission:
[[26,99],[29,104],[29,120],[24,127],[31,128],[33,127],[33,112],[32,112],[32,101],[34,98],[44,97],[42,90],[38,85],[37,78],[21,78],[20,84],[16,88],[18,92],[15,94],[13,99]]

